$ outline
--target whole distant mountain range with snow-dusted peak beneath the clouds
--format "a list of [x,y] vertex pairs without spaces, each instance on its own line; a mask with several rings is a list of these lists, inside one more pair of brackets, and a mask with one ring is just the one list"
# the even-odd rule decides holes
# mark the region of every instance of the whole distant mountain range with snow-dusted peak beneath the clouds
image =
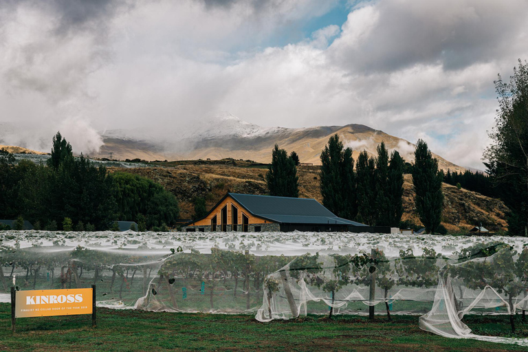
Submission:
[[[329,137],[335,133],[345,146],[353,149],[354,159],[363,149],[370,155],[376,154],[376,147],[385,142],[387,148],[397,150],[404,159],[414,159],[415,145],[383,131],[371,129],[362,124],[346,126],[316,126],[305,129],[281,127],[263,128],[250,124],[233,115],[223,113],[209,120],[204,127],[197,127],[192,133],[156,137],[140,131],[113,130],[103,136],[104,145],[96,156],[107,157],[113,153],[118,159],[252,159],[268,163],[275,144],[288,152],[296,151],[300,162],[320,165],[320,154]],[[439,168],[463,172],[457,166],[439,155]]]

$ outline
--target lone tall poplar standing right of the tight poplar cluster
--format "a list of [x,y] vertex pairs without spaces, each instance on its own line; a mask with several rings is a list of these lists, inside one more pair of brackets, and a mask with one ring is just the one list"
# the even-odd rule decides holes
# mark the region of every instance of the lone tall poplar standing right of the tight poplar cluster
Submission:
[[443,208],[442,181],[443,173],[438,170],[438,160],[432,157],[427,143],[418,140],[412,183],[415,185],[416,209],[426,232],[439,230]]

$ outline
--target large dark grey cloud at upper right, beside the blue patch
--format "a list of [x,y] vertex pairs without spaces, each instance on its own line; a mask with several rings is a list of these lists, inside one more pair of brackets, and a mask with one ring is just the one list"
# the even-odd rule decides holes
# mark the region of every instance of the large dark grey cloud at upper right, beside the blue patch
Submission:
[[333,56],[353,71],[462,69],[524,50],[527,12],[522,0],[378,1],[349,14]]

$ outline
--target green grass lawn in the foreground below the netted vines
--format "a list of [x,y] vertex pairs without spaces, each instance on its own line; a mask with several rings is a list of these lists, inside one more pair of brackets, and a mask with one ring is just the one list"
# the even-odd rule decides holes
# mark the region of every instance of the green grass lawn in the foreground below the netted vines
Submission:
[[[509,336],[507,316],[467,318],[475,333]],[[517,321],[516,337],[528,336]],[[0,351],[526,351],[526,347],[441,338],[421,331],[418,317],[387,322],[309,316],[261,323],[253,316],[98,309],[91,316],[21,318],[11,333],[10,305],[0,304]]]

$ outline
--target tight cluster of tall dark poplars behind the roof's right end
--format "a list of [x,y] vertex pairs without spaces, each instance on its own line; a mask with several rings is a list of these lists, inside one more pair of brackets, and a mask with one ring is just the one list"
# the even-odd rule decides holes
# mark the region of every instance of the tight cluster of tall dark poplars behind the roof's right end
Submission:
[[354,170],[352,149],[344,148],[336,134],[322,151],[321,163],[320,189],[325,207],[339,217],[368,225],[399,224],[404,160],[397,151],[389,159],[382,142],[375,158],[362,151]]

